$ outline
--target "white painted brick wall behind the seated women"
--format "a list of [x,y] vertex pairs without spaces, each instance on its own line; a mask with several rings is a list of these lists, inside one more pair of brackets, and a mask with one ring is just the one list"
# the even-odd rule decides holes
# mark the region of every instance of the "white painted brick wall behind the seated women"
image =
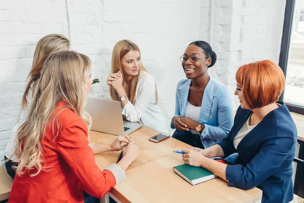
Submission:
[[169,127],[176,84],[185,78],[179,56],[186,46],[209,42],[211,33],[218,61],[209,73],[233,93],[241,64],[264,58],[278,62],[285,1],[217,0],[211,25],[209,0],[68,0],[69,12],[64,0],[2,0],[0,162],[19,119],[35,44],[48,33],[70,36],[72,49],[91,58],[93,78],[101,81],[93,85],[92,95],[101,98],[109,98],[105,79],[115,43],[129,39],[138,44],[144,66],[156,79]]

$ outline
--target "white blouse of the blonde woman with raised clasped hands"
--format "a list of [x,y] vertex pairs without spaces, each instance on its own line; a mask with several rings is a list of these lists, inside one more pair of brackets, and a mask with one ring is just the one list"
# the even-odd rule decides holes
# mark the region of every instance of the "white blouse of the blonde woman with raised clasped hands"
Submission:
[[135,91],[135,104],[129,101],[122,109],[122,114],[128,121],[140,122],[147,127],[168,133],[164,114],[156,104],[155,79],[148,72],[140,72]]

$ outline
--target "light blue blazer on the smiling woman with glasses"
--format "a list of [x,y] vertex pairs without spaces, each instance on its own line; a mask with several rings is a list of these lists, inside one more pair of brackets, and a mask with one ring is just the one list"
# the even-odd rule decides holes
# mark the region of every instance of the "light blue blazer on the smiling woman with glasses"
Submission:
[[[192,80],[180,80],[176,88],[174,116],[184,116],[189,87]],[[201,133],[201,140],[205,148],[220,142],[227,137],[233,126],[232,98],[226,87],[219,81],[210,77],[204,91],[199,123],[205,125]],[[171,128],[175,126],[171,121]]]

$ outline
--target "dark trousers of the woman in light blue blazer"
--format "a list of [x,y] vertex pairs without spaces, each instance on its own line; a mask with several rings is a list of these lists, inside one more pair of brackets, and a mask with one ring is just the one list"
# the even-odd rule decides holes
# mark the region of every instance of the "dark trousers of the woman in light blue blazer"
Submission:
[[189,131],[179,131],[175,130],[173,133],[172,138],[175,138],[176,140],[179,140],[183,143],[186,143],[188,145],[191,145],[193,147],[198,147],[201,149],[205,149],[200,134],[192,134]]

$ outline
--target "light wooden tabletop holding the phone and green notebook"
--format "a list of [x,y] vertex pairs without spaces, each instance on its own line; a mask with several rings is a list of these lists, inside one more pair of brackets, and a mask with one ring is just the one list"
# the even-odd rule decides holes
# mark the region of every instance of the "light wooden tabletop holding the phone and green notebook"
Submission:
[[[160,143],[148,141],[158,134],[156,130],[143,126],[130,134],[140,149],[138,158],[126,171],[127,180],[110,190],[110,195],[121,202],[256,202],[262,197],[258,188],[241,190],[228,187],[220,178],[192,186],[173,172],[173,167],[183,164],[181,155],[172,152],[191,146],[174,138]],[[90,141],[109,144],[117,137],[90,131]],[[103,170],[116,163],[120,152],[95,155],[98,166]]]

